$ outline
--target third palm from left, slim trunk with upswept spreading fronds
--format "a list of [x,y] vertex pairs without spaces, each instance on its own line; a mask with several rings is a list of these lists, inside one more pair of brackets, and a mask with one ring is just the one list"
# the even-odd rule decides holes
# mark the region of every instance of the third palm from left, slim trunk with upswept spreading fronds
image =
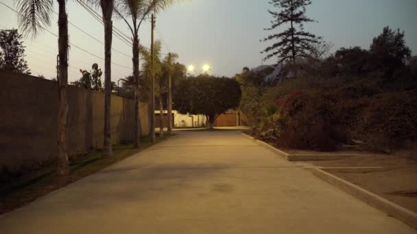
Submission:
[[[174,0],[119,0],[116,14],[128,25],[132,33],[132,62],[134,77],[134,146],[140,145],[139,118],[139,28],[151,12],[165,9]],[[130,18],[130,20],[129,20]]]

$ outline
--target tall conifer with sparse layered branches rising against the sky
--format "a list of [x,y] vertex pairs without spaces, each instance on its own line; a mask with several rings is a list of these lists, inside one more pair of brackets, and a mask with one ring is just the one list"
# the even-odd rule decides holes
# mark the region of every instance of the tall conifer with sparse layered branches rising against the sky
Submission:
[[[278,40],[267,47],[262,53],[267,53],[265,60],[278,57],[278,64],[292,61],[296,63],[298,58],[308,57],[311,44],[319,43],[320,38],[304,30],[304,23],[314,22],[306,16],[306,7],[310,0],[272,0],[270,4],[275,8],[281,8],[281,12],[268,12],[274,17],[272,26],[265,30],[274,30],[281,25],[289,24],[289,28],[281,33],[272,34],[263,41]],[[296,27],[298,25],[298,27]]]

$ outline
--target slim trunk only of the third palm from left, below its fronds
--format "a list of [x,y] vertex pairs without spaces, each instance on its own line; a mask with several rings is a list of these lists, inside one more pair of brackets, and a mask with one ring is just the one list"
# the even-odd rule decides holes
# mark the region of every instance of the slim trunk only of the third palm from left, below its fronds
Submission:
[[137,33],[133,40],[133,76],[134,76],[134,148],[141,144],[140,113],[139,113],[139,39]]

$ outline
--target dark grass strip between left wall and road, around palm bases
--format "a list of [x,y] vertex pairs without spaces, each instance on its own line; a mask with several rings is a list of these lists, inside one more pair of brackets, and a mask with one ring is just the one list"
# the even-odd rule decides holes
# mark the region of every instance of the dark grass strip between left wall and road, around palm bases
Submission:
[[[169,137],[156,137],[156,143],[167,138]],[[77,155],[70,160],[71,174],[65,177],[58,177],[55,166],[49,166],[37,172],[23,175],[14,181],[2,183],[0,185],[0,214],[12,211],[40,196],[94,174],[152,145],[150,137],[145,137],[141,139],[141,148],[133,148],[133,144],[113,146],[112,156],[108,158],[102,158],[100,151]]]

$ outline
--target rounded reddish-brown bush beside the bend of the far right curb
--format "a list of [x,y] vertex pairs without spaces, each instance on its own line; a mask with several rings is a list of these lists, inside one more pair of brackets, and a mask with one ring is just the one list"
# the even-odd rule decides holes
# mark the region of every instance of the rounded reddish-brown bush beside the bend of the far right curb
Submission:
[[335,121],[333,103],[320,92],[296,91],[278,99],[278,146],[334,151],[346,141]]

